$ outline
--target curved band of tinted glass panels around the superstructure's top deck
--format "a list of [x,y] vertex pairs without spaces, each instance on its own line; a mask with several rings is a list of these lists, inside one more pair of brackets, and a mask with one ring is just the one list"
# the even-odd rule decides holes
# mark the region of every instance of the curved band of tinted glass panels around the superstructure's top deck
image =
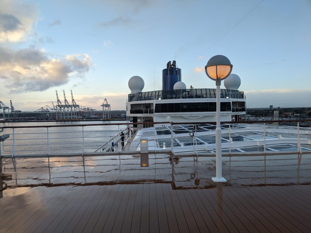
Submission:
[[[244,99],[244,92],[238,90],[220,89],[220,98]],[[143,101],[155,99],[188,99],[188,98],[216,98],[216,89],[180,89],[160,90],[133,93],[128,95],[128,101]]]

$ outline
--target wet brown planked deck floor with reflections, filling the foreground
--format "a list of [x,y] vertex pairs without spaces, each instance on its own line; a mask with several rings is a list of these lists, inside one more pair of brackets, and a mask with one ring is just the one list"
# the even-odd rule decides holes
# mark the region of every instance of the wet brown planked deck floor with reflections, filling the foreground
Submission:
[[0,160],[0,232],[311,232],[311,154]]

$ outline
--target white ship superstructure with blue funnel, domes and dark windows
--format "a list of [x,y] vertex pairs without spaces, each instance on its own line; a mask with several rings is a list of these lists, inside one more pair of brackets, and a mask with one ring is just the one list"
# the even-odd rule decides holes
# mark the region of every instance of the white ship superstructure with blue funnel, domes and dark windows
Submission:
[[[221,121],[238,121],[246,113],[246,97],[238,90],[240,83],[235,74],[225,80],[226,89],[221,89],[220,94]],[[187,89],[176,61],[169,61],[162,71],[162,90],[142,92],[144,80],[139,76],[133,76],[128,86],[131,94],[126,111],[128,117],[133,117],[133,123],[216,121],[216,89],[192,86]],[[137,128],[143,126],[137,124]]]

